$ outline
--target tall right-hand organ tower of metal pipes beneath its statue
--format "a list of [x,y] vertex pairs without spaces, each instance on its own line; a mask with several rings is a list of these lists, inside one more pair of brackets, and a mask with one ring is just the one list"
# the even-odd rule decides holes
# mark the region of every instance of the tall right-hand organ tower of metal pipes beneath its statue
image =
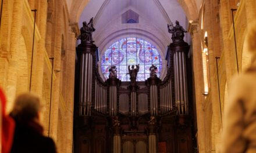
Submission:
[[189,114],[187,94],[187,54],[189,45],[184,41],[170,43],[173,52],[173,69],[175,79],[175,105],[177,114]]

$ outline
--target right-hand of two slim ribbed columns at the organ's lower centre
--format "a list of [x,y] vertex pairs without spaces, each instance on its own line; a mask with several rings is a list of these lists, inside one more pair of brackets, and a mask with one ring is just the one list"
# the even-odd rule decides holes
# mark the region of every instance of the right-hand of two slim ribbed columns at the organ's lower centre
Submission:
[[150,122],[148,125],[148,152],[157,153],[157,126],[155,122]]

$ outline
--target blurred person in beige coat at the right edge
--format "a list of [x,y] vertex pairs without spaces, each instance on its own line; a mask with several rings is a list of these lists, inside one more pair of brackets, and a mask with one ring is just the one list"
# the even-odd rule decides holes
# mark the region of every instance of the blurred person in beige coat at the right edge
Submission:
[[223,153],[256,152],[256,24],[248,28],[250,67],[230,83],[223,126]]

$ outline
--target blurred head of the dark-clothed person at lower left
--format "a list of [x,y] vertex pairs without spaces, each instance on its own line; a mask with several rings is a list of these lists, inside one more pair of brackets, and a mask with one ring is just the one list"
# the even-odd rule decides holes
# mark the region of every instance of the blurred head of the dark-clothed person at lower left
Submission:
[[40,98],[33,93],[22,93],[15,99],[10,115],[19,122],[29,122],[39,119]]

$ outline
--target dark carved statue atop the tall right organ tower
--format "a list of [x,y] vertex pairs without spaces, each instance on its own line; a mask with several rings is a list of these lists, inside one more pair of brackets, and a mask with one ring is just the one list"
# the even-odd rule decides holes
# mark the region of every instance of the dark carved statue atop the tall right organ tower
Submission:
[[[168,32],[170,34],[172,34],[172,42],[180,42],[180,41],[184,41],[184,32],[187,32],[186,30],[184,30],[184,28],[182,27],[182,25],[180,25],[179,21],[176,20],[176,25],[175,27],[173,27],[173,24],[167,24],[168,27]],[[172,29],[170,29],[170,27],[172,27]]]

